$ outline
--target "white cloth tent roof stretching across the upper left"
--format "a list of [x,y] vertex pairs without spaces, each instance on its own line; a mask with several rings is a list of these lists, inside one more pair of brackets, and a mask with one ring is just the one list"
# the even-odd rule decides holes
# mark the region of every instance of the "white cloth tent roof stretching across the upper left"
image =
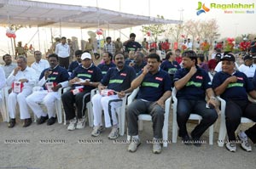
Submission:
[[[150,19],[150,20],[149,20]],[[136,25],[179,24],[180,20],[125,14],[96,7],[26,0],[0,0],[0,25],[122,29]]]

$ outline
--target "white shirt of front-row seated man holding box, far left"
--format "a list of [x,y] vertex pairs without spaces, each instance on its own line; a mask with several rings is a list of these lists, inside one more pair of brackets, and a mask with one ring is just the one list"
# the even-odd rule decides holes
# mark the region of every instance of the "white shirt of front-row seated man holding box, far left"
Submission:
[[15,70],[11,72],[9,77],[7,78],[6,84],[7,86],[11,86],[13,82],[18,82],[20,79],[27,79],[28,82],[24,82],[24,88],[33,87],[35,82],[38,81],[36,76],[36,71],[31,67],[26,66],[26,69],[21,71],[19,70],[18,73],[14,76]]

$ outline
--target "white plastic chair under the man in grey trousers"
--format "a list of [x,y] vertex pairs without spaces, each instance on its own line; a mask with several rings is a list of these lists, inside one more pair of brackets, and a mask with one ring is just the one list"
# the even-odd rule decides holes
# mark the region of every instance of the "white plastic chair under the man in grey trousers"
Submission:
[[[137,87],[131,95],[128,97],[128,105],[131,104],[131,102],[135,99],[137,96],[137,93],[139,91],[139,87]],[[165,121],[164,121],[164,127],[162,129],[162,135],[163,135],[163,147],[167,147],[168,145],[168,125],[169,125],[169,112],[170,112],[170,105],[171,105],[171,97],[166,99],[165,102]],[[138,130],[143,130],[143,121],[152,121],[152,116],[148,114],[140,114],[138,115]],[[128,131],[128,129],[127,129]],[[131,136],[128,135],[127,132],[127,140],[131,140]]]

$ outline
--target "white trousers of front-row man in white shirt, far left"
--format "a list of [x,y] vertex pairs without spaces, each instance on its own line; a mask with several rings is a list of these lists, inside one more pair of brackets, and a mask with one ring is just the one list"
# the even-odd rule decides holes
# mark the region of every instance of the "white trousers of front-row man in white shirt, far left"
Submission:
[[32,88],[23,88],[21,93],[10,93],[8,96],[8,111],[9,117],[15,119],[16,104],[20,107],[20,119],[30,118],[26,97],[32,93]]

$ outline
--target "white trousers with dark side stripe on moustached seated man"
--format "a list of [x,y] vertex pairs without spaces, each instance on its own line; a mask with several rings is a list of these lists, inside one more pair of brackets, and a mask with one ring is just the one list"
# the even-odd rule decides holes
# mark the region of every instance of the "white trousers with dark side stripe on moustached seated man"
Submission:
[[118,125],[115,109],[122,105],[122,99],[118,95],[103,96],[96,94],[91,99],[94,126],[102,126],[102,110],[104,112],[105,127]]

